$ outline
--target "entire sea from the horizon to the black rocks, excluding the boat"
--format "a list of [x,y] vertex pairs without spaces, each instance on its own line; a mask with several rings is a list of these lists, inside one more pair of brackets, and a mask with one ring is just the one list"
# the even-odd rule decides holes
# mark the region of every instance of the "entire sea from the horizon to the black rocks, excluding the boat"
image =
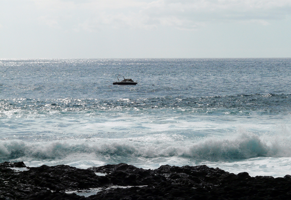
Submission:
[[[0,59],[0,69],[0,162],[291,174],[291,59]],[[138,84],[112,84],[123,76]]]

